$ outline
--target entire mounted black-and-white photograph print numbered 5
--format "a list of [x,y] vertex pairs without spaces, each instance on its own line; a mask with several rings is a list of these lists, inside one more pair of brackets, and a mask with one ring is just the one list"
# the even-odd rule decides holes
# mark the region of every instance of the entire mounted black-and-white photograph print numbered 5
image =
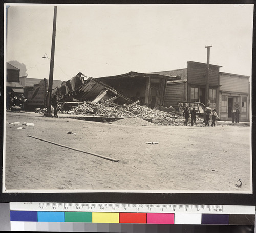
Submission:
[[253,4],[5,4],[3,192],[252,194]]

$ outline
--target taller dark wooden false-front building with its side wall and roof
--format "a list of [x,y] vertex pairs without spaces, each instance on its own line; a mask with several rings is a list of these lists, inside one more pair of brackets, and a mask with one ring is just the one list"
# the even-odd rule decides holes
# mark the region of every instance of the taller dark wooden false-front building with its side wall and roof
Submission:
[[[179,76],[180,80],[168,81],[164,107],[177,109],[177,101],[205,103],[206,64],[194,61],[187,62],[187,68],[173,71],[154,72],[154,74]],[[208,106],[219,111],[220,67],[211,65],[209,70],[209,103]]]

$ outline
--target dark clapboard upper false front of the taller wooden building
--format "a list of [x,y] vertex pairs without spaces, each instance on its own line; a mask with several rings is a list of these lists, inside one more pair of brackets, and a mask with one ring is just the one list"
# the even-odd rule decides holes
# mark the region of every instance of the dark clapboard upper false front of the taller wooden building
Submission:
[[[206,64],[188,62],[187,81],[195,85],[205,85],[206,83]],[[210,65],[209,85],[219,85],[219,66]]]

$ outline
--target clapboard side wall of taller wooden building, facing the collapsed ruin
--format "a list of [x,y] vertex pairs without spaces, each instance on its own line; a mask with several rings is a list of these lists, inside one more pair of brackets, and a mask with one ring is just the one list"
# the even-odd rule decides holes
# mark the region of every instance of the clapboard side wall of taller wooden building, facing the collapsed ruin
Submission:
[[186,100],[186,82],[167,84],[164,107],[177,108],[177,101]]

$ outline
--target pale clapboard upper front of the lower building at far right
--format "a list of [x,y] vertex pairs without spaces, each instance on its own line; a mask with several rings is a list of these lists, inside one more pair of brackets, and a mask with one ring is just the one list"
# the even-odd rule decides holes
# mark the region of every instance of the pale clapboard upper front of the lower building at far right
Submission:
[[220,75],[220,90],[249,93],[249,78],[236,75]]

